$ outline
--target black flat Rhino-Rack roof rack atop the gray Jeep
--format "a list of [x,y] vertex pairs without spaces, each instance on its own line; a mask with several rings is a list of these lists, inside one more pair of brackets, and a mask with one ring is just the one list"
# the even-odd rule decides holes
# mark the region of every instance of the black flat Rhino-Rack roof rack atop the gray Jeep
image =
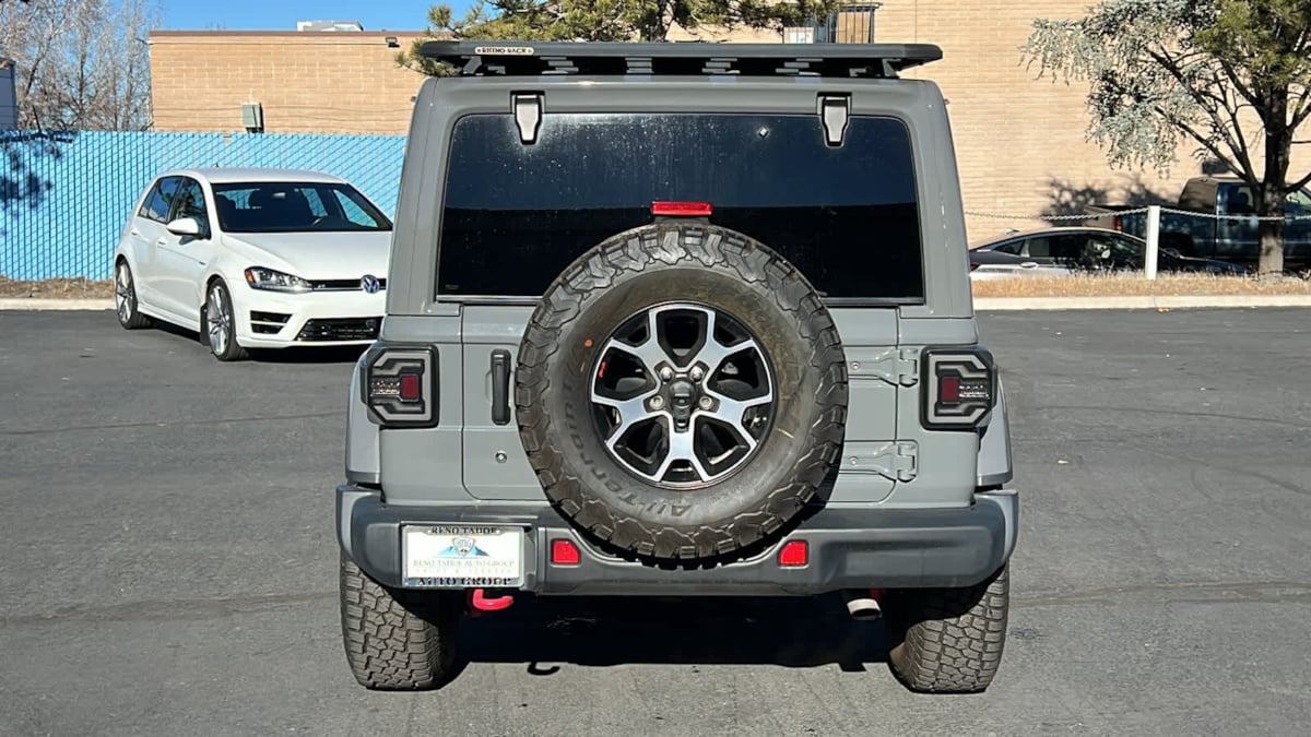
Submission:
[[461,76],[895,77],[943,58],[943,50],[929,43],[429,41],[420,52],[454,66]]

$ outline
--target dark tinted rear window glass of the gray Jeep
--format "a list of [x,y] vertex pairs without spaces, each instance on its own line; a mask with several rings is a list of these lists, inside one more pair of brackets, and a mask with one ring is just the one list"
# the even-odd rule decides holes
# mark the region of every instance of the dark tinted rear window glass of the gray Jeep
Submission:
[[796,265],[830,300],[920,302],[906,126],[853,117],[830,148],[815,115],[548,114],[532,146],[511,115],[454,130],[438,294],[539,296],[656,201],[711,202],[711,222]]

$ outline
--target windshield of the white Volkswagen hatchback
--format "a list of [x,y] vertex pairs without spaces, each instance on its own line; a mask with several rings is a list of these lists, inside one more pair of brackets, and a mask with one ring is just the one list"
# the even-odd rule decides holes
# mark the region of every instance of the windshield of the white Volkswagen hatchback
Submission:
[[218,184],[214,203],[219,226],[232,233],[392,229],[391,220],[346,184]]

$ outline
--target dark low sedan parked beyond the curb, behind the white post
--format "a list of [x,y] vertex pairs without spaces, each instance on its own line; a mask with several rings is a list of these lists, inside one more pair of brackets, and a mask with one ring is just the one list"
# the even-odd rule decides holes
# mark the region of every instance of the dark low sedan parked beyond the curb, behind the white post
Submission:
[[[1011,233],[970,250],[970,278],[1068,277],[1080,273],[1139,271],[1147,243],[1104,228],[1042,228]],[[1242,266],[1214,258],[1181,256],[1162,248],[1156,270],[1242,274]]]

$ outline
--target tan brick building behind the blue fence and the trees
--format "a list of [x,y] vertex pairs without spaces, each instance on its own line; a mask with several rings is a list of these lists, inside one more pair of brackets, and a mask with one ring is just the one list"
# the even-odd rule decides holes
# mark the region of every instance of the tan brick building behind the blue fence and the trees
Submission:
[[[969,211],[1019,218],[969,218],[971,239],[1029,228],[1034,218],[1088,202],[1118,202],[1131,194],[1177,197],[1201,164],[1184,146],[1168,178],[1113,170],[1084,140],[1086,88],[1038,80],[1021,63],[1019,46],[1033,17],[1079,17],[1087,0],[956,3],[882,0],[861,5],[818,29],[785,34],[688,33],[671,39],[779,42],[927,42],[944,58],[909,77],[935,80],[948,98],[956,134],[965,206]],[[871,31],[871,18],[873,29]],[[243,130],[243,102],[262,104],[269,132],[404,134],[421,77],[397,68],[393,56],[416,33],[156,31],[151,68],[156,130]],[[1298,147],[1311,148],[1311,147]],[[1294,153],[1294,172],[1311,167],[1311,151]]]

